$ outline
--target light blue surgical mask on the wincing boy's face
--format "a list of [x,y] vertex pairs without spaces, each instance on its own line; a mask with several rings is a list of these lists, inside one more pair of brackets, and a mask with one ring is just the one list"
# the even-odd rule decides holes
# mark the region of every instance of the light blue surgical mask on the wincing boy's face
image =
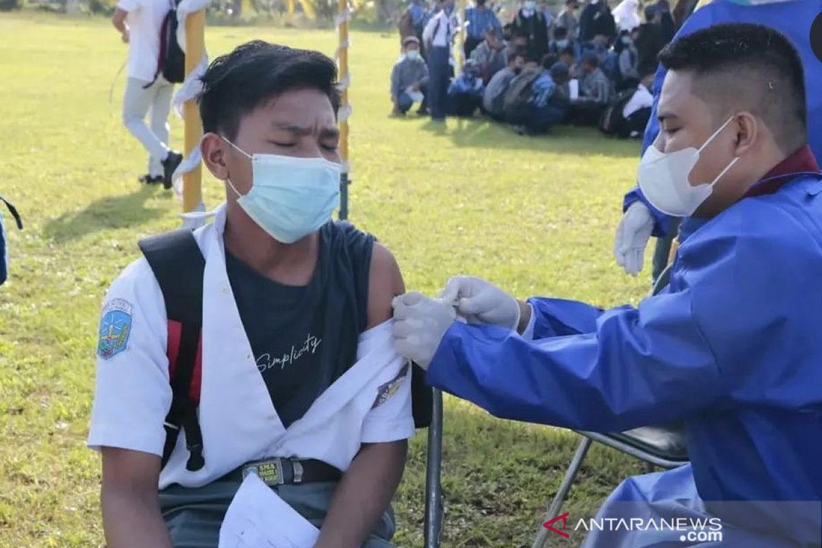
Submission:
[[[225,139],[225,138],[224,138]],[[278,242],[293,243],[318,230],[339,205],[339,163],[324,158],[248,154],[252,189],[242,196],[229,179],[237,204]]]

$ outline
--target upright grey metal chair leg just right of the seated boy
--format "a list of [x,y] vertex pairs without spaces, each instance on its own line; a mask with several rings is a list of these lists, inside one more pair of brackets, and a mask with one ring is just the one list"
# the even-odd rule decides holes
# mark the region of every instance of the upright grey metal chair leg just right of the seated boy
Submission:
[[442,533],[442,392],[434,390],[425,477],[425,548],[439,548]]

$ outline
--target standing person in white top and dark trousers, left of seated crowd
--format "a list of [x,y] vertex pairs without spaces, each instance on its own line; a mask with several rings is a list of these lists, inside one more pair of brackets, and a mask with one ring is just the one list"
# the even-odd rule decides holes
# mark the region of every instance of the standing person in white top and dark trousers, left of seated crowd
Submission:
[[423,43],[428,51],[428,108],[434,122],[446,121],[448,81],[451,74],[451,44],[456,27],[451,20],[454,2],[441,2],[442,9],[428,21]]

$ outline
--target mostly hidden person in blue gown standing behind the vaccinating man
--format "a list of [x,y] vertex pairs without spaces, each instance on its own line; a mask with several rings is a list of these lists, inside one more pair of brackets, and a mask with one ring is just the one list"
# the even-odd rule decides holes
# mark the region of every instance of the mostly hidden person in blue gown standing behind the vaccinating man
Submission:
[[[705,3],[688,17],[677,33],[677,38],[696,30],[721,23],[754,23],[767,25],[782,32],[791,40],[805,66],[805,88],[808,108],[808,140],[816,158],[822,158],[822,61],[810,46],[810,28],[822,14],[822,0],[713,0]],[[656,108],[659,91],[665,79],[665,67],[659,67],[654,79],[653,113],[643,140],[643,153],[659,133]],[[653,207],[639,187],[628,192],[623,200],[622,219],[614,239],[614,256],[627,274],[636,276],[643,267],[645,247],[651,236],[658,237],[653,254],[652,279],[667,265],[671,242],[677,235],[680,219],[671,217]],[[690,233],[686,220],[679,240]]]

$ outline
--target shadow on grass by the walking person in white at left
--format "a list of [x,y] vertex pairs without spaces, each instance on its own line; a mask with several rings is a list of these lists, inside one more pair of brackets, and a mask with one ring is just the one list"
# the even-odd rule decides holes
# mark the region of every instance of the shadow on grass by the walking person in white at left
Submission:
[[145,200],[162,192],[159,187],[142,186],[126,196],[108,196],[91,202],[84,210],[60,215],[46,223],[44,235],[54,242],[71,242],[87,234],[111,228],[132,228],[165,214],[146,208]]

